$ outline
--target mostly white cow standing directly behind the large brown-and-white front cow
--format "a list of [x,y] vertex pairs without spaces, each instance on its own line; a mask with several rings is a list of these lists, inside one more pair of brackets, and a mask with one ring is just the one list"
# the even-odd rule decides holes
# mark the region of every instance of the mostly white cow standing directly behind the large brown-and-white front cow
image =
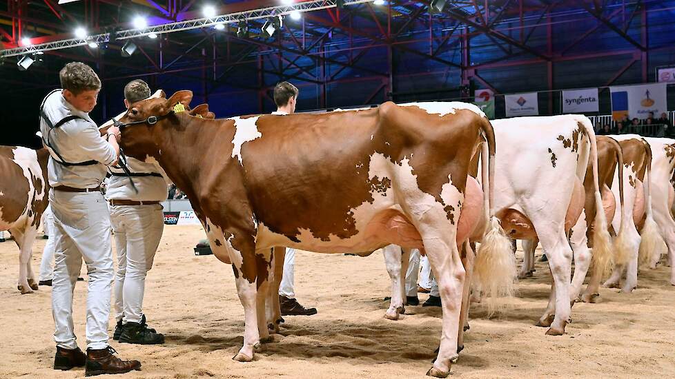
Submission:
[[[554,283],[537,325],[549,327],[547,334],[560,335],[569,322],[571,301],[578,296],[571,291],[567,230],[585,205],[583,182],[589,162],[595,206],[603,208],[593,127],[587,117],[576,114],[495,120],[492,125],[497,144],[494,209],[511,238],[540,241]],[[593,254],[607,256],[605,212],[595,212],[594,225]]]

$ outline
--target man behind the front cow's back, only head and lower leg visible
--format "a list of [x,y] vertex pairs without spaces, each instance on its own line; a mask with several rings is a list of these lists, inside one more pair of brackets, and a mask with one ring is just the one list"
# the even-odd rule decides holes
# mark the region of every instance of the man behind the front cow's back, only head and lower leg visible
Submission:
[[[274,102],[277,105],[276,112],[272,114],[293,114],[295,113],[295,104],[297,103],[297,94],[299,91],[295,85],[282,81],[275,85]],[[305,308],[295,300],[295,290],[293,289],[293,280],[295,272],[295,249],[286,247],[286,258],[284,258],[284,275],[279,286],[279,303],[282,316],[312,316],[317,313],[316,308]]]

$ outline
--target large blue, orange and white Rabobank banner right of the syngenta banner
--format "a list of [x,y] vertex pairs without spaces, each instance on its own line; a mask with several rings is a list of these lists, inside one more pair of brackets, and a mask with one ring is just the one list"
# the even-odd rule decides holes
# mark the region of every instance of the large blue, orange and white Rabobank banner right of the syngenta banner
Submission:
[[666,84],[652,83],[610,87],[612,93],[612,117],[615,120],[627,115],[629,119],[647,119],[649,112],[654,117],[667,112]]

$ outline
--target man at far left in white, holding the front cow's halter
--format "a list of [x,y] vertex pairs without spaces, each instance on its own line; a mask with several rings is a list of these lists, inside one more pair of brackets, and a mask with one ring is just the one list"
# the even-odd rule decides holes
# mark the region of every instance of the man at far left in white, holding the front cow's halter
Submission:
[[[86,376],[124,373],[139,369],[137,360],[123,361],[108,345],[110,285],[113,256],[110,214],[100,192],[106,166],[117,162],[119,130],[101,137],[88,112],[96,106],[101,81],[84,63],[68,63],[54,90],[40,107],[40,130],[50,151],[49,201],[54,214],[55,269],[52,280],[52,316],[57,353],[54,368],[86,366]],[[77,347],[72,320],[72,296],[81,267],[89,282],[86,317],[86,356]]]

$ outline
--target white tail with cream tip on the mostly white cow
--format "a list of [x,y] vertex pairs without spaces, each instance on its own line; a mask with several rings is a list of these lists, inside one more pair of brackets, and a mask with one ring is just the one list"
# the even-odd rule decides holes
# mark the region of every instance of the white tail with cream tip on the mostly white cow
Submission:
[[[598,145],[596,143],[596,134],[593,131],[591,121],[585,116],[578,116],[578,125],[584,127],[591,143],[591,167],[593,172],[594,197],[596,201],[596,218],[593,225],[593,258],[591,264],[593,270],[605,273],[612,260],[612,244],[610,243],[609,232],[607,231],[607,219],[605,218],[605,207],[603,207],[603,197],[600,195],[600,183],[598,179]],[[622,159],[623,161],[623,159]]]

